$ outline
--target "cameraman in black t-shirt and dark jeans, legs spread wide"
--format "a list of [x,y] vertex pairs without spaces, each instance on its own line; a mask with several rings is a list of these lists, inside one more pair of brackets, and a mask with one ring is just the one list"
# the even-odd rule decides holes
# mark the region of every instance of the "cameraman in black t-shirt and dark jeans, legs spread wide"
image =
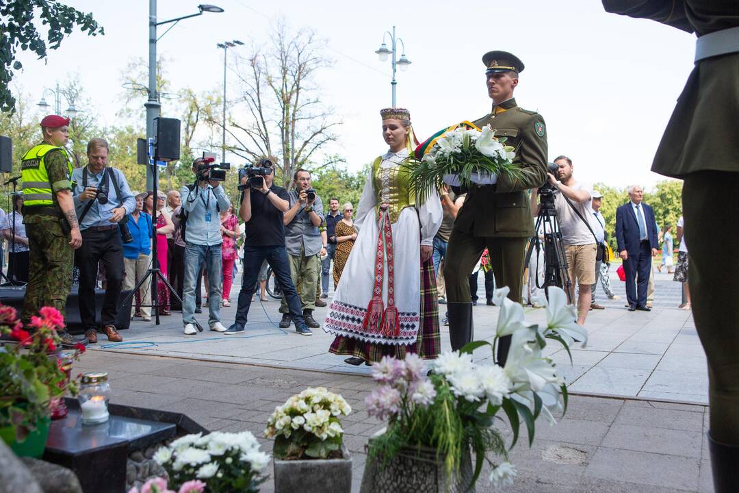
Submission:
[[[274,168],[276,160],[265,158],[257,166]],[[246,185],[244,177],[241,184]],[[285,188],[273,184],[274,171],[262,179],[261,188],[248,187],[242,192],[239,217],[245,222],[244,273],[242,275],[239,304],[236,307],[236,321],[228,327],[226,334],[242,333],[247,322],[251,297],[256,288],[256,279],[262,262],[267,263],[275,274],[282,292],[285,293],[295,330],[302,336],[312,336],[313,332],[305,325],[300,297],[290,277],[285,250],[285,230],[282,219],[290,208]]]

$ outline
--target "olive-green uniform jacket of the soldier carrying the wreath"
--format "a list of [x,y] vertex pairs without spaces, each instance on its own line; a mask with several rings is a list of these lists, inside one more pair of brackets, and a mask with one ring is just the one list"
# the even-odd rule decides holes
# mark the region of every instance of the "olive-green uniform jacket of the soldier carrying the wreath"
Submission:
[[542,186],[547,177],[547,136],[542,115],[522,109],[515,99],[509,99],[474,124],[479,128],[490,125],[496,137],[506,138],[506,146],[514,146],[513,162],[520,169],[520,177],[511,180],[500,176],[495,185],[473,184],[454,220],[454,229],[474,237],[531,237],[534,222],[527,191]]

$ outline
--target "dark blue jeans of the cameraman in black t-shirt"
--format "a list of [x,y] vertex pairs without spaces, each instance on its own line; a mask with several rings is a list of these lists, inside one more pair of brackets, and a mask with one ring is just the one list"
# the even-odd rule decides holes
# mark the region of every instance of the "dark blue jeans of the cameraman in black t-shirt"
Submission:
[[241,278],[241,291],[239,292],[239,305],[236,307],[236,324],[244,326],[249,315],[251,297],[256,290],[256,280],[259,279],[259,270],[262,262],[272,268],[275,279],[282,293],[287,299],[287,307],[293,316],[295,327],[305,324],[300,296],[293,285],[290,276],[290,265],[287,263],[287,251],[284,246],[248,246],[244,247],[244,273]]

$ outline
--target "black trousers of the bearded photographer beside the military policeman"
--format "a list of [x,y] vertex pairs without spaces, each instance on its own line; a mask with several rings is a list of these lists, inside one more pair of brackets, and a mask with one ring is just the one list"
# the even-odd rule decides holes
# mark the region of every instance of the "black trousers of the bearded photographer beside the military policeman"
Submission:
[[87,228],[82,231],[82,246],[75,250],[75,263],[80,270],[80,319],[85,330],[98,328],[95,324],[95,284],[98,262],[101,261],[106,273],[105,298],[101,310],[101,322],[105,327],[115,325],[120,288],[123,285],[123,247],[118,225]]

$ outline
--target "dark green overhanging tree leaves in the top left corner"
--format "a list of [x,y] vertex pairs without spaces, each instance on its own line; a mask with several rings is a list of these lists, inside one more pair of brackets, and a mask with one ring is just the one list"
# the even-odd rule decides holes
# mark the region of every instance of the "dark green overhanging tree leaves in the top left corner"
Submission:
[[[47,41],[41,38],[36,25],[47,26]],[[46,58],[47,48],[56,50],[75,26],[88,35],[105,34],[90,13],[81,13],[58,1],[0,0],[0,111],[16,110],[16,98],[8,84],[13,72],[23,68],[16,60],[18,48]],[[48,44],[47,44],[48,43]]]

